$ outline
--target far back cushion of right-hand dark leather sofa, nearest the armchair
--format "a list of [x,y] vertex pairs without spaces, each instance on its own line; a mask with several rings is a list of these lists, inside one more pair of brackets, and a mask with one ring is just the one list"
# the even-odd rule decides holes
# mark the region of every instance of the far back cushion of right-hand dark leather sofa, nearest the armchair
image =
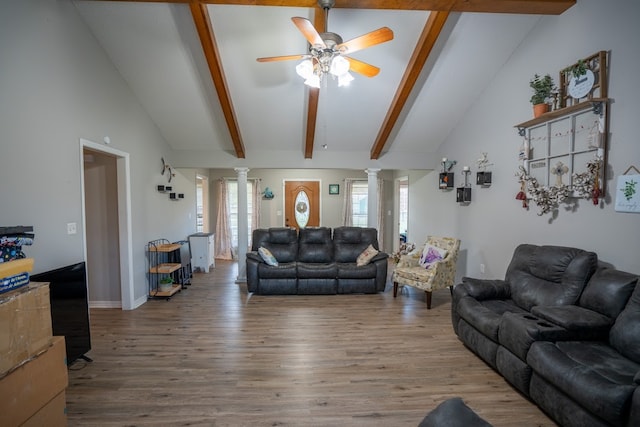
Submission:
[[582,249],[522,244],[514,251],[505,276],[511,298],[525,310],[575,304],[597,260],[595,253]]

